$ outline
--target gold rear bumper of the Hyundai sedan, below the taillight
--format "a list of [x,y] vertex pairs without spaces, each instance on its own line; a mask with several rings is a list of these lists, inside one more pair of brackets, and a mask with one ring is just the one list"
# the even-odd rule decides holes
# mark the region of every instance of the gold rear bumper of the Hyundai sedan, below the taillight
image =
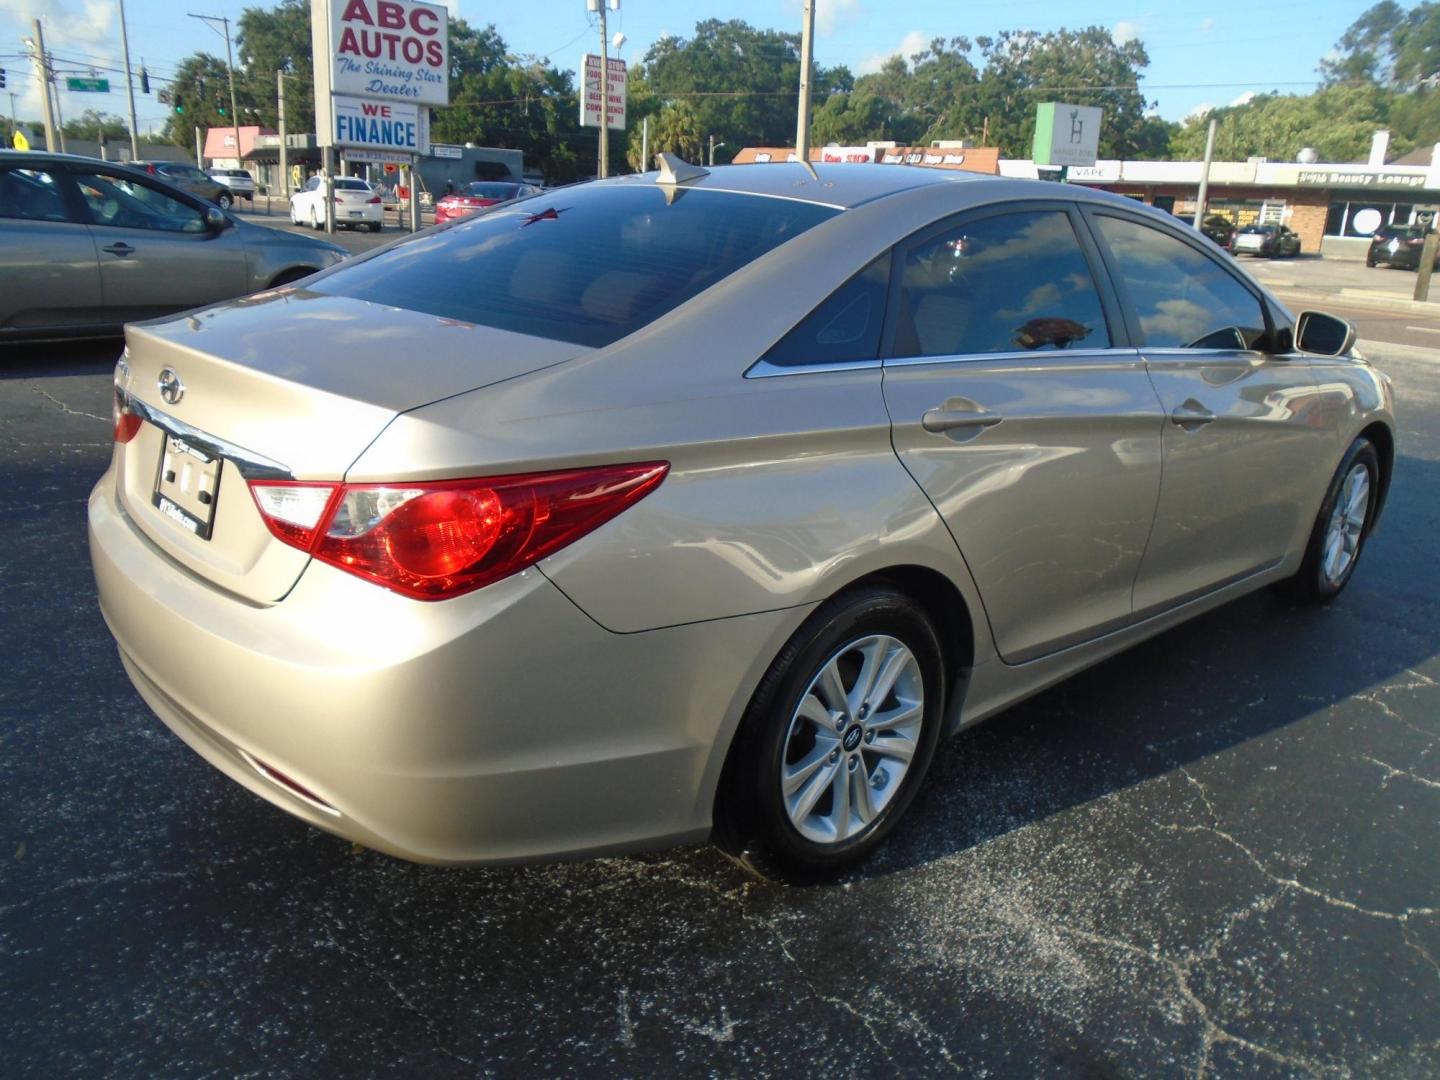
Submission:
[[724,749],[805,611],[602,629],[540,570],[423,603],[312,563],[279,603],[199,580],[89,500],[135,688],[206,760],[402,858],[600,854],[708,834]]

